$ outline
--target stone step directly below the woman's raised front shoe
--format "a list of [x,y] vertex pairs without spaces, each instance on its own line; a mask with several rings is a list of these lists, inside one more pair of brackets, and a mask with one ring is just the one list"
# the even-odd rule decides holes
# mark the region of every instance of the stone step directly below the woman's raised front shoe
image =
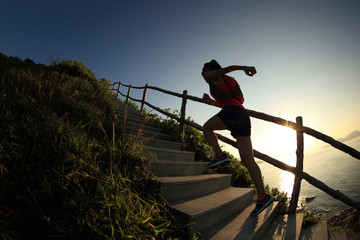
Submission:
[[178,204],[229,188],[231,174],[159,177],[158,180],[161,195],[170,204]]

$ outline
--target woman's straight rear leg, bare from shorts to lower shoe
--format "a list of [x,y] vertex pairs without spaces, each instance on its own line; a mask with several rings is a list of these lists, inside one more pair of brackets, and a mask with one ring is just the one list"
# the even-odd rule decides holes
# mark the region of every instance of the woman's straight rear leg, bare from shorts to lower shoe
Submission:
[[251,180],[253,181],[258,197],[263,196],[265,192],[264,182],[261,175],[261,170],[254,159],[254,152],[250,137],[236,137],[237,147],[239,149],[241,162],[248,169]]

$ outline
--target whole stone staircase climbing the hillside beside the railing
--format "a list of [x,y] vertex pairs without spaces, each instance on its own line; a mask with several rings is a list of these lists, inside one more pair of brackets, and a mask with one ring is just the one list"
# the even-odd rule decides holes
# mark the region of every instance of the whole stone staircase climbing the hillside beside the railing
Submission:
[[[118,101],[117,101],[118,102]],[[125,106],[118,102],[124,118]],[[277,215],[277,202],[257,217],[254,189],[231,186],[230,174],[208,174],[207,163],[195,162],[193,152],[181,151],[181,144],[169,141],[161,130],[146,123],[135,109],[126,110],[126,132],[151,138],[145,146],[157,160],[151,170],[160,191],[180,219],[193,223],[203,239],[347,239],[343,233],[328,234],[326,222],[303,227],[303,215]]]

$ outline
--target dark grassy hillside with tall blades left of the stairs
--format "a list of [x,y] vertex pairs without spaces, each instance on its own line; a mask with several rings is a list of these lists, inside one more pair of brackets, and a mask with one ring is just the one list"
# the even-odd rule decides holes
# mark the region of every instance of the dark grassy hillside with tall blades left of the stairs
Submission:
[[0,54],[0,238],[194,239],[83,64]]

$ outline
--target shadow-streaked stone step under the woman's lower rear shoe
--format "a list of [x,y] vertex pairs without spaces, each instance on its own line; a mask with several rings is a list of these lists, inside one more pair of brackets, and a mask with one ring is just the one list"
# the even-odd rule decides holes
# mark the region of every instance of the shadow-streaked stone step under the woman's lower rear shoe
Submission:
[[277,205],[278,202],[273,202],[258,216],[253,217],[250,216],[251,211],[255,208],[255,204],[252,203],[240,214],[236,214],[203,232],[201,237],[211,240],[261,239],[261,235],[276,216]]

